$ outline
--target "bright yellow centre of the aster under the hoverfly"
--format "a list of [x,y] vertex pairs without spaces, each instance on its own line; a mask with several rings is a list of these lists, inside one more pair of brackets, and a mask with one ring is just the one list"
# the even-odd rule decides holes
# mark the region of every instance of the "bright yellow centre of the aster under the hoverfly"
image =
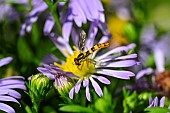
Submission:
[[65,72],[72,72],[74,75],[79,76],[79,77],[89,77],[92,73],[96,71],[95,68],[95,63],[93,59],[91,58],[86,58],[83,59],[80,64],[81,65],[76,65],[74,62],[74,58],[77,58],[77,56],[81,53],[78,51],[75,47],[74,48],[74,53],[72,55],[68,55],[65,64],[60,65],[58,63],[54,63],[54,65],[58,66]]

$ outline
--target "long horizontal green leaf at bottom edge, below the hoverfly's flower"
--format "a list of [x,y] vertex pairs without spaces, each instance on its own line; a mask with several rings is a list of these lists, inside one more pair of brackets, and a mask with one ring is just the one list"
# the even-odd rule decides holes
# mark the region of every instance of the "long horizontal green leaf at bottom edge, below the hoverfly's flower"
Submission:
[[92,109],[82,107],[79,105],[66,105],[66,106],[60,107],[59,110],[64,111],[64,112],[93,113]]

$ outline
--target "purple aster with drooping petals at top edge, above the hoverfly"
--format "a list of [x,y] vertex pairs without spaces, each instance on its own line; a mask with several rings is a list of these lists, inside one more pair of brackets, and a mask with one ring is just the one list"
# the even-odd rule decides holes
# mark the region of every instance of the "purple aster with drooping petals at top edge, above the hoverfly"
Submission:
[[90,29],[94,33],[89,35],[91,38],[95,37],[98,28],[101,29],[105,36],[110,36],[100,0],[71,0],[65,12],[61,12],[61,22],[63,23],[62,34],[65,40],[69,40],[69,36],[74,28],[74,22],[80,28],[82,24],[90,21]]

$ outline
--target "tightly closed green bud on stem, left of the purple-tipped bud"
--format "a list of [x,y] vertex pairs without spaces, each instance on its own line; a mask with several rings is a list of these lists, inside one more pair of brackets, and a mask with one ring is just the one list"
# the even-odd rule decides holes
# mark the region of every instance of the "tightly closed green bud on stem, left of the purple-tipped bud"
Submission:
[[33,75],[29,81],[28,88],[33,108],[38,111],[40,102],[46,97],[50,89],[50,79],[43,74]]

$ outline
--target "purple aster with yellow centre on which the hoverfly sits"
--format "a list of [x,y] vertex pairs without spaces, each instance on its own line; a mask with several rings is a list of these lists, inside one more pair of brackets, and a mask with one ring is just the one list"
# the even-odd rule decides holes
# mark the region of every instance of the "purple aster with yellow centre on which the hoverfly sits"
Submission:
[[[58,37],[54,34],[50,34],[51,40],[54,42],[56,47],[63,53],[66,57],[66,61],[62,61],[62,64],[57,62],[54,63],[54,66],[45,66],[45,68],[38,68],[38,70],[47,75],[49,78],[54,79],[54,75],[57,72],[65,73],[70,78],[75,78],[78,80],[76,85],[70,90],[69,97],[73,99],[74,92],[78,93],[80,87],[83,86],[86,88],[86,98],[90,101],[90,83],[92,84],[95,92],[98,96],[103,96],[103,92],[96,82],[96,80],[102,82],[103,84],[110,84],[110,81],[106,78],[107,76],[112,76],[120,79],[130,79],[130,77],[135,76],[135,74],[131,71],[125,70],[113,70],[110,68],[120,68],[120,67],[131,67],[136,65],[138,62],[135,60],[137,58],[137,54],[128,54],[122,55],[122,52],[128,52],[132,48],[135,47],[134,44],[130,44],[128,46],[122,46],[115,49],[112,49],[106,53],[101,54],[101,52],[96,51],[87,59],[83,60],[80,63],[80,67],[76,65],[75,58],[84,51],[79,51],[78,41],[77,44],[73,47],[69,45],[68,41],[65,38]],[[90,41],[91,40],[91,41]],[[107,42],[108,37],[103,36],[99,43]],[[76,42],[76,41],[75,41]],[[94,45],[94,39],[87,38],[86,47],[88,50]],[[95,46],[96,47],[96,46]],[[86,50],[86,52],[88,51]],[[88,52],[87,52],[88,53]],[[98,55],[98,54],[101,55]],[[55,68],[55,71],[51,68]],[[51,71],[49,71],[51,70]],[[50,73],[49,73],[50,72]],[[69,74],[68,74],[69,73]]]

